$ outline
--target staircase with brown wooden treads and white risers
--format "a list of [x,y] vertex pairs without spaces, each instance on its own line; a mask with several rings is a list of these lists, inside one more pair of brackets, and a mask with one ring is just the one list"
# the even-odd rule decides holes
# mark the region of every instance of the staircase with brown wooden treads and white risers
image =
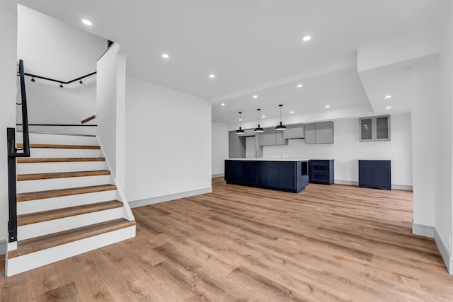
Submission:
[[30,134],[30,149],[17,159],[18,241],[8,243],[6,276],[135,236],[96,137]]

